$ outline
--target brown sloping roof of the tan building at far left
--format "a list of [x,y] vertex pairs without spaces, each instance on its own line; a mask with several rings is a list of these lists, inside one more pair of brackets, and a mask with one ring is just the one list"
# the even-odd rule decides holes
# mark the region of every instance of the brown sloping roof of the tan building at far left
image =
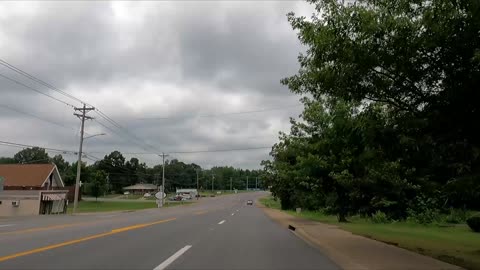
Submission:
[[54,164],[0,164],[0,176],[4,186],[42,186],[52,171]]

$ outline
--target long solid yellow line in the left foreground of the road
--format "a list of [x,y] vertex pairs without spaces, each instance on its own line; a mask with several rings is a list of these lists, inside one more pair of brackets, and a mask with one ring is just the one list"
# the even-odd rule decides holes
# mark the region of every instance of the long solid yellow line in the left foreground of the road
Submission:
[[71,241],[66,241],[66,242],[62,242],[62,243],[58,243],[58,244],[54,244],[54,245],[49,245],[49,246],[44,246],[44,247],[41,247],[41,248],[27,250],[27,251],[15,253],[15,254],[12,254],[12,255],[7,255],[7,256],[0,257],[0,262],[10,260],[10,259],[13,259],[13,258],[18,258],[18,257],[34,254],[34,253],[39,253],[39,252],[55,249],[55,248],[59,248],[59,247],[73,245],[73,244],[76,244],[76,243],[85,242],[85,241],[88,241],[88,240],[92,240],[92,239],[96,239],[96,238],[100,238],[100,237],[105,237],[105,236],[109,236],[109,235],[112,235],[112,234],[117,234],[117,233],[120,233],[120,232],[125,232],[125,231],[129,231],[129,230],[135,230],[135,229],[140,229],[140,228],[144,228],[144,227],[147,227],[147,226],[152,226],[152,225],[155,225],[155,224],[165,223],[165,222],[173,221],[175,219],[176,218],[170,218],[170,219],[159,220],[159,221],[155,221],[155,222],[151,222],[151,223],[137,224],[137,225],[133,225],[133,226],[114,229],[114,230],[111,230],[110,232],[106,232],[106,233],[94,234],[94,235],[91,235],[91,236],[87,236],[87,237],[83,237],[83,238],[79,238],[79,239],[75,239],[75,240],[71,240]]

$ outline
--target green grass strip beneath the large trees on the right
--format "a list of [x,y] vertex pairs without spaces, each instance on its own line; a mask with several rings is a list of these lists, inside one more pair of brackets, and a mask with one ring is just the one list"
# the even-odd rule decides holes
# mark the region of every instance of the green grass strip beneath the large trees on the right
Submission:
[[[260,202],[269,208],[280,209],[280,201],[262,198]],[[335,216],[318,211],[286,211],[291,215],[338,225],[341,229],[393,244],[420,254],[480,270],[480,233],[474,233],[465,224],[439,226],[420,225],[411,222],[376,224],[359,217],[349,218],[349,223],[339,223]]]

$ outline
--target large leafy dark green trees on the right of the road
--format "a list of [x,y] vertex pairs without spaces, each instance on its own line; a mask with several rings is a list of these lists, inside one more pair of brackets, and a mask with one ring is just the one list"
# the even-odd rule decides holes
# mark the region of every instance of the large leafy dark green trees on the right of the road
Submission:
[[431,221],[480,209],[480,2],[308,1],[304,96],[263,161],[283,209]]

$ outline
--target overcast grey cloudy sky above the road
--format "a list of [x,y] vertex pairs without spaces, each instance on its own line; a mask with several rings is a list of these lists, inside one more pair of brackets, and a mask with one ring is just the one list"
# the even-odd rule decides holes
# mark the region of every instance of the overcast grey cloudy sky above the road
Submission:
[[[1,2],[0,59],[128,130],[90,112],[86,136],[106,135],[86,140],[85,152],[101,158],[120,150],[152,165],[161,159],[142,153],[271,146],[288,131],[302,107],[279,81],[298,70],[302,47],[286,13],[312,10],[302,1]],[[0,65],[0,141],[78,148],[72,107],[2,75],[81,105]],[[0,156],[18,150],[0,145]],[[169,158],[259,168],[268,153]]]

